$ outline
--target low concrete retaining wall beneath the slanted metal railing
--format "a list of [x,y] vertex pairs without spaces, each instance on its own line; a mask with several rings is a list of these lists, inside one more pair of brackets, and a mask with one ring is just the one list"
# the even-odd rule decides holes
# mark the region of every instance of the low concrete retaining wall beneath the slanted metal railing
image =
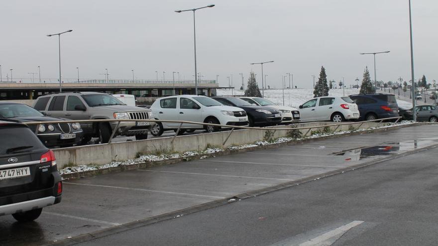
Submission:
[[[312,122],[299,124],[298,127],[315,127],[312,131],[324,129],[326,125],[332,125],[332,122]],[[362,124],[361,128],[370,128],[383,123],[365,122],[349,125],[331,126],[331,131],[349,130],[352,127],[357,128],[359,124]],[[275,126],[268,129],[284,128],[285,126]],[[308,130],[299,130],[302,134],[308,132]],[[288,131],[267,131],[264,130],[234,130],[229,136],[225,145],[223,142],[229,135],[229,131],[216,132],[216,133],[203,133],[193,135],[177,136],[172,142],[173,137],[155,138],[140,141],[128,141],[121,143],[111,144],[99,144],[89,146],[79,146],[70,148],[61,148],[53,150],[56,155],[56,160],[59,168],[63,168],[67,165],[79,165],[79,164],[107,164],[112,161],[126,161],[134,159],[138,155],[154,154],[160,155],[161,153],[183,153],[187,151],[202,151],[208,147],[222,147],[226,148],[231,145],[243,145],[252,144],[257,141],[266,140],[266,137],[281,138],[287,137]]]

